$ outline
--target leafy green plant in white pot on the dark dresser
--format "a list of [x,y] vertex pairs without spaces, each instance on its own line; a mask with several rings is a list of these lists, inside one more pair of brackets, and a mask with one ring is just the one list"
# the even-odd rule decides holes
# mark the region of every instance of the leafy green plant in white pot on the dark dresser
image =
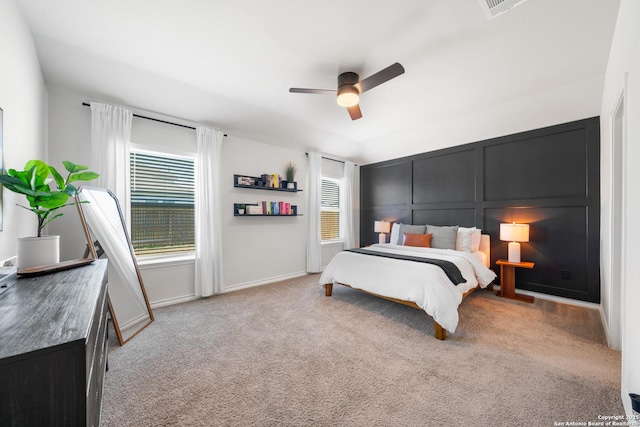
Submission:
[[[43,236],[42,230],[51,221],[62,216],[59,209],[76,204],[74,197],[78,189],[71,185],[72,182],[91,181],[99,176],[88,171],[86,166],[66,160],[62,164],[68,172],[66,178],[41,160],[29,160],[23,171],[9,169],[7,175],[0,175],[0,184],[27,198],[29,207],[18,206],[33,212],[38,218],[37,237],[18,239],[20,268],[59,262],[60,236]],[[55,185],[51,188],[50,184]],[[69,199],[72,201],[69,202]],[[43,244],[48,245],[49,249],[41,248]]]

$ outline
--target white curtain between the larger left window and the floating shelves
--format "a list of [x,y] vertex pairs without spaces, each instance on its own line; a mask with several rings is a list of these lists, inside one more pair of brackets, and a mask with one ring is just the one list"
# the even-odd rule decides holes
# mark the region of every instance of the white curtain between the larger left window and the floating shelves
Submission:
[[196,128],[196,295],[221,293],[222,226],[220,221],[220,167],[222,132]]

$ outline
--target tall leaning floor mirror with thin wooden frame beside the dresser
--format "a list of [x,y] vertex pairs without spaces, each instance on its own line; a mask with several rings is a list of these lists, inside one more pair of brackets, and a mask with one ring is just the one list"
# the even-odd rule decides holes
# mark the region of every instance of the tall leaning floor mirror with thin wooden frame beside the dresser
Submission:
[[[80,187],[78,212],[91,255],[109,259],[109,311],[120,345],[153,322],[131,238],[116,196],[105,188]],[[87,203],[88,202],[88,203]]]

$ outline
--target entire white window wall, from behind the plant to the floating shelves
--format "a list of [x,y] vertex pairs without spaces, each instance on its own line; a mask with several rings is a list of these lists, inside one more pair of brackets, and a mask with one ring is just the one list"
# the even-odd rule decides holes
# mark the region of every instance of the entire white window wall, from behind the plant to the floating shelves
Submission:
[[[82,106],[90,96],[68,89],[49,89],[50,161],[62,160],[90,164],[91,111]],[[108,102],[108,101],[105,101]],[[135,111],[160,119],[178,121],[158,114]],[[183,123],[186,123],[182,121]],[[191,124],[193,125],[193,124]],[[132,142],[149,148],[165,148],[183,153],[195,152],[195,132],[171,125],[134,118]],[[304,152],[263,144],[229,135],[222,148],[221,203],[223,229],[223,274],[226,291],[259,285],[305,273],[307,242],[308,192],[261,191],[233,187],[233,175],[280,173],[293,161],[298,173],[298,187],[307,184],[307,159]],[[239,218],[233,216],[234,203],[257,203],[261,200],[288,201],[298,206],[299,217]],[[61,259],[79,258],[85,248],[82,227],[74,209],[50,226],[52,234],[61,236]],[[192,299],[195,293],[193,261],[147,264],[140,260],[149,299],[154,306]]]

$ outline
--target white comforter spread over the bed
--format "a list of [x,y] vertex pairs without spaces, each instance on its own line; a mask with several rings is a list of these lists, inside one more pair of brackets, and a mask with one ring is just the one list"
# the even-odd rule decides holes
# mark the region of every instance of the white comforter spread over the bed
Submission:
[[496,277],[477,254],[451,249],[432,249],[375,244],[367,249],[453,262],[467,280],[457,286],[433,264],[410,262],[343,251],[325,268],[320,284],[343,283],[390,298],[412,301],[453,333],[458,326],[458,306],[468,290],[486,287]]

